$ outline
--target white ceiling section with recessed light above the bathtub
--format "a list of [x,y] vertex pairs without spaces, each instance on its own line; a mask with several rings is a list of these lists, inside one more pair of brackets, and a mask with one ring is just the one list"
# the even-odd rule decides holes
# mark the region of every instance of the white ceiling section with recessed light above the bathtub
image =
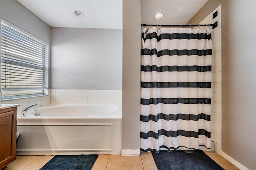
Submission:
[[[122,29],[122,0],[18,0],[51,27]],[[84,13],[83,17],[74,11]]]

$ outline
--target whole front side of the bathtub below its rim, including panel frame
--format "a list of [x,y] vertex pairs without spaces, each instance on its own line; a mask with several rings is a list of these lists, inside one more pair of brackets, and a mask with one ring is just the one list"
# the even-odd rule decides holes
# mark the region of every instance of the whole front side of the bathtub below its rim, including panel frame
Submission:
[[17,130],[17,155],[121,152],[121,119],[22,119]]

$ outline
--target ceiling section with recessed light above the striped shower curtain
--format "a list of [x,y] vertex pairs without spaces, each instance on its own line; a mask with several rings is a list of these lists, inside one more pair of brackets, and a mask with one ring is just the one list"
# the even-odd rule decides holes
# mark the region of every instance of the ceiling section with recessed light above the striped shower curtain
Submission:
[[[141,0],[142,24],[187,24],[208,0]],[[163,12],[164,17],[154,15]]]

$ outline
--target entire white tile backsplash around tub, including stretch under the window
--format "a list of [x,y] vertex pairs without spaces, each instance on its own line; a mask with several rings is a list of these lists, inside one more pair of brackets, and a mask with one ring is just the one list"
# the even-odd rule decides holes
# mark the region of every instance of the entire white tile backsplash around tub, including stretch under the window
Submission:
[[122,90],[49,90],[50,95],[1,101],[1,104],[19,104],[18,113],[25,107],[41,103],[49,104],[88,103],[118,105],[122,107]]

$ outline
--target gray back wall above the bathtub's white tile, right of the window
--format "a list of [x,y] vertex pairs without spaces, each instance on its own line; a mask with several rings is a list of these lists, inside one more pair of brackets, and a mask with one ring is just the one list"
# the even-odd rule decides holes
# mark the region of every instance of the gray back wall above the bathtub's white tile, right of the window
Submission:
[[51,89],[122,90],[122,30],[52,28]]

